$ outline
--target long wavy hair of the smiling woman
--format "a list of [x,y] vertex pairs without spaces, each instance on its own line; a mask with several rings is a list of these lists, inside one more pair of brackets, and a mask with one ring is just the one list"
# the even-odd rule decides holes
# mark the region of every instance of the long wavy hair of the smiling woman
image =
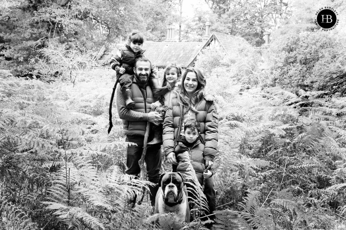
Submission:
[[[193,93],[193,96],[191,97],[191,99],[189,98],[189,95],[186,92],[185,87],[184,87],[184,81],[185,81],[186,75],[189,72],[194,72],[196,74],[197,82],[198,82],[197,89]],[[185,71],[181,77],[180,92],[177,93],[178,103],[183,106],[183,109],[185,112],[188,110],[191,110],[194,113],[198,112],[194,108],[194,106],[203,99],[202,91],[204,91],[206,84],[207,84],[206,78],[204,77],[203,73],[199,69],[193,68],[193,67],[189,67],[189,68],[185,69]]]

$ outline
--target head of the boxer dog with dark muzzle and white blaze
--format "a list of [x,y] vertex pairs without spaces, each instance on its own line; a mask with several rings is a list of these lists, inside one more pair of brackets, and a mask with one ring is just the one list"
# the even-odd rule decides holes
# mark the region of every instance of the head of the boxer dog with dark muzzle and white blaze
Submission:
[[158,184],[162,188],[163,199],[166,202],[177,202],[182,194],[184,179],[180,172],[166,172],[161,174]]

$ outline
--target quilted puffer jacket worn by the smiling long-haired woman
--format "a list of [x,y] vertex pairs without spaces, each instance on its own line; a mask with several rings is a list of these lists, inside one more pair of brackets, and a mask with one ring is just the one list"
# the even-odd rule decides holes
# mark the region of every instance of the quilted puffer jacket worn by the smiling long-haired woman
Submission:
[[[196,119],[200,122],[200,135],[204,142],[204,160],[213,161],[217,152],[217,143],[219,140],[219,115],[215,106],[215,97],[212,94],[200,92],[201,101],[196,104],[195,109],[198,111]],[[165,155],[174,152],[177,137],[181,132],[185,111],[182,105],[178,103],[177,98],[173,98],[170,109],[166,112],[163,123],[163,149]]]

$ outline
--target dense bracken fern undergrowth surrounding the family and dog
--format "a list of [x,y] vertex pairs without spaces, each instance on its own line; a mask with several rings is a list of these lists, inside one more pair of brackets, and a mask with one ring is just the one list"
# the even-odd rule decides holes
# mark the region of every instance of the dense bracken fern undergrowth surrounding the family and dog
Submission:
[[[124,174],[116,108],[107,134],[111,72],[0,80],[0,229],[169,229],[153,223],[147,189],[129,208],[149,182]],[[217,229],[345,229],[345,98],[222,82],[207,79],[220,114]]]

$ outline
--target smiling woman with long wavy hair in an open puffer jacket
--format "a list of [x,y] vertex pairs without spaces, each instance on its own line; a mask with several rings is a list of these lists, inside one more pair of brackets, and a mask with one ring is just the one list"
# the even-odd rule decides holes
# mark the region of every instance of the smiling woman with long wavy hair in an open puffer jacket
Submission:
[[[193,67],[187,68],[182,74],[180,91],[172,100],[170,109],[166,112],[163,123],[163,148],[167,160],[172,163],[173,171],[176,170],[177,160],[174,152],[177,140],[184,139],[183,123],[188,119],[196,119],[200,123],[200,140],[204,144],[203,160],[204,169],[210,169],[217,152],[218,119],[215,97],[206,94],[206,78],[203,73]],[[211,214],[216,210],[215,189],[213,177],[205,179],[203,193],[206,195]],[[214,215],[209,216],[211,220]],[[207,219],[207,218],[206,218]],[[204,219],[204,220],[206,220]],[[203,220],[203,219],[202,219]],[[214,229],[212,224],[206,227]]]

